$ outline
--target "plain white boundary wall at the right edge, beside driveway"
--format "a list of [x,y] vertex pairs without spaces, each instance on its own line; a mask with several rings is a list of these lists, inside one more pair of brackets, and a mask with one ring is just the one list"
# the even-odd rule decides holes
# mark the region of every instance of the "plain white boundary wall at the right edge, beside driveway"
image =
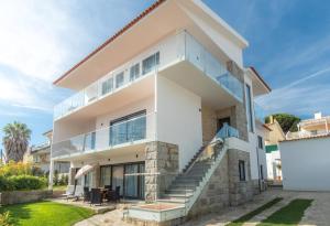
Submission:
[[330,191],[330,138],[279,143],[285,190]]

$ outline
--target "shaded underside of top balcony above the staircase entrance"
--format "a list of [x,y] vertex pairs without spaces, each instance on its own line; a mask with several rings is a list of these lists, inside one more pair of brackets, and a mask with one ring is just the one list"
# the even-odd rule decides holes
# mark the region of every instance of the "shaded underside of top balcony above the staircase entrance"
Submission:
[[208,75],[204,74],[204,72],[188,61],[182,61],[161,71],[160,76],[164,76],[200,96],[202,104],[215,109],[231,107],[240,103],[228,90],[217,84],[216,80],[208,77]]

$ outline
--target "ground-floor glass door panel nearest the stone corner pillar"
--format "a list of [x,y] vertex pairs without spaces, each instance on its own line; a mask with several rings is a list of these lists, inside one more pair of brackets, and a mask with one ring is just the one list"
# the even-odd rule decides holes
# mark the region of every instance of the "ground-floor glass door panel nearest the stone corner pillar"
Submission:
[[138,197],[138,175],[130,175],[139,173],[138,164],[125,165],[125,196]]

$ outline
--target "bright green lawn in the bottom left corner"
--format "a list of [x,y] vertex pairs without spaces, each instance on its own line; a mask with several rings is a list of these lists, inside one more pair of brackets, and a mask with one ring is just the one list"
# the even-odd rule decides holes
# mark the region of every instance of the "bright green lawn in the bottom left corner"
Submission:
[[10,212],[10,222],[18,226],[69,226],[94,215],[91,209],[54,202],[0,207],[0,213],[7,211]]

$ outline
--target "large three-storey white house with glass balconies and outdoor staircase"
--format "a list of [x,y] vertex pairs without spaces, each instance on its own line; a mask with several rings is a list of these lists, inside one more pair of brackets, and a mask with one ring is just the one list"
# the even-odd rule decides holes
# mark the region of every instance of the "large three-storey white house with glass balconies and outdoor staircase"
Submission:
[[72,184],[92,165],[78,185],[186,203],[177,214],[251,200],[266,175],[254,98],[271,89],[246,46],[201,1],[156,1],[54,82],[77,93],[55,107],[52,161],[70,161]]

